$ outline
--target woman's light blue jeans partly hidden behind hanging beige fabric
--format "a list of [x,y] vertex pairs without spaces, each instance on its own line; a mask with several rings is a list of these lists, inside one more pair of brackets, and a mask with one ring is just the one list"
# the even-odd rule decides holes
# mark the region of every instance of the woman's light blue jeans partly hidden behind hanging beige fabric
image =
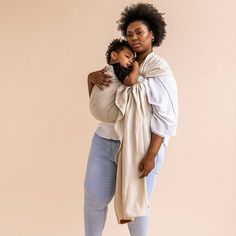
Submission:
[[[102,235],[108,204],[115,193],[115,158],[119,145],[119,141],[102,138],[96,133],[93,136],[84,183],[85,236]],[[155,177],[159,173],[164,160],[164,152],[165,146],[162,145],[156,157],[156,166],[147,176],[149,200],[153,192]],[[134,221],[128,223],[130,235],[147,236],[149,218],[149,216],[137,217]]]

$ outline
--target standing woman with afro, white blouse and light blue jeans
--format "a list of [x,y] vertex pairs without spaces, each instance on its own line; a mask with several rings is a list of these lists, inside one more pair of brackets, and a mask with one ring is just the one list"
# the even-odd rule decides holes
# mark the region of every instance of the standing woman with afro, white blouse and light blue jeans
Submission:
[[[140,177],[145,177],[149,200],[155,177],[163,162],[168,139],[175,135],[178,116],[175,80],[168,64],[153,52],[153,47],[159,46],[165,38],[165,26],[162,14],[153,5],[142,3],[125,8],[118,22],[118,29],[137,54],[142,75],[140,81],[143,81],[151,111],[150,142],[138,167]],[[106,89],[110,82],[104,69],[90,73],[89,91],[93,86]],[[114,123],[99,124],[92,140],[85,177],[86,236],[102,235],[107,206],[116,188],[116,157],[119,146],[119,136],[115,131]],[[132,222],[127,221],[130,235],[146,236],[149,218],[149,215],[145,215],[134,218]]]

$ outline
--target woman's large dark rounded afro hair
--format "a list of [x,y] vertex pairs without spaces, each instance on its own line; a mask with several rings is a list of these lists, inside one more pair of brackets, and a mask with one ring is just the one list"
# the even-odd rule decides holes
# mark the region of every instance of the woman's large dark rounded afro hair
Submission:
[[158,10],[149,3],[132,4],[127,6],[121,13],[121,18],[117,21],[118,30],[126,37],[126,31],[130,23],[134,21],[143,21],[148,29],[154,34],[152,46],[158,47],[166,36],[166,23],[163,18],[164,14],[165,13],[158,12]]

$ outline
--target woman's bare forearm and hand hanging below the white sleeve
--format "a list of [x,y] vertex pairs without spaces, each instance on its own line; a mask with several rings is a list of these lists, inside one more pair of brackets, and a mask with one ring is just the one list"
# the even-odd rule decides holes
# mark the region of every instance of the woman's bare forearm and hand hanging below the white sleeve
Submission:
[[155,167],[155,158],[160,150],[163,141],[163,137],[152,133],[151,143],[148,151],[139,164],[139,170],[141,172],[140,178],[147,176]]

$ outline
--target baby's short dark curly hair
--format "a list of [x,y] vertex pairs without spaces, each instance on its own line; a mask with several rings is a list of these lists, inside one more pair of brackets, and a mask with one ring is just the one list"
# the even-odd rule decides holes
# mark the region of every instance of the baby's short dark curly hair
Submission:
[[129,48],[132,52],[134,52],[125,39],[113,39],[111,43],[109,44],[108,49],[106,51],[107,64],[110,64],[111,62],[111,52],[114,51],[118,53],[124,48]]

